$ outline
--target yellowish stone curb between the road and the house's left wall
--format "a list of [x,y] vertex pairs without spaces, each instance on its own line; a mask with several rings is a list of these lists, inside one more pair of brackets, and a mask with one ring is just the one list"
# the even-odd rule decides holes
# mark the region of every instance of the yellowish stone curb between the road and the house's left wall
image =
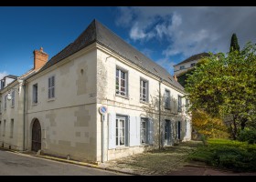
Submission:
[[9,151],[9,152],[13,152],[13,153],[16,153],[16,154],[21,154],[23,156],[46,158],[46,159],[49,159],[49,160],[55,160],[55,161],[59,161],[59,162],[79,165],[79,166],[82,166],[82,167],[98,168],[98,169],[101,169],[101,170],[107,170],[107,171],[112,171],[112,172],[116,172],[116,173],[123,173],[123,174],[133,175],[133,176],[143,176],[142,174],[137,174],[137,173],[133,173],[133,172],[113,169],[113,168],[110,168],[110,167],[101,167],[99,165],[93,165],[93,164],[90,164],[90,163],[79,162],[79,161],[75,161],[75,160],[68,160],[68,159],[59,158],[59,157],[37,156],[37,155],[25,154],[23,152],[19,152],[19,151],[4,148],[4,147],[0,147],[0,149],[5,150],[5,151]]

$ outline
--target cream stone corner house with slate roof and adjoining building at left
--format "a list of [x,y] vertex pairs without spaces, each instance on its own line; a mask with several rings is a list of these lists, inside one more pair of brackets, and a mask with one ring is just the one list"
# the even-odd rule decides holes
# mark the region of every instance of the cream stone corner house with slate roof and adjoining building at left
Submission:
[[0,115],[3,147],[103,162],[190,140],[184,87],[97,20],[48,62],[38,52],[44,64],[35,55],[34,69],[0,90],[2,107],[19,90]]

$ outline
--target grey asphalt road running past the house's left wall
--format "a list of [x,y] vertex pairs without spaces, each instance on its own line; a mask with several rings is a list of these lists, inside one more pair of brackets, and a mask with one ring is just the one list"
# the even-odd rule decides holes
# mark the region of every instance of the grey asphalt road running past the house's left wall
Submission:
[[62,163],[45,158],[30,157],[0,149],[0,176],[117,176],[91,167]]

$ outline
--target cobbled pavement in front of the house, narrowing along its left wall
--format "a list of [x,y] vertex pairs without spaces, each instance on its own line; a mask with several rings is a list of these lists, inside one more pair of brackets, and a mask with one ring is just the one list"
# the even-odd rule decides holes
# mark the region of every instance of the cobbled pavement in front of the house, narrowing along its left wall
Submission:
[[[59,157],[50,157],[47,155],[38,156],[36,153],[33,152],[17,152],[1,147],[0,149],[14,152],[18,155],[41,157],[50,160],[56,160],[59,162],[66,162],[69,164],[75,164],[84,167],[94,167],[102,170],[109,170],[112,172],[135,176],[256,176],[256,172],[234,173],[229,170],[221,170],[208,167],[205,166],[203,163],[187,163],[184,161],[185,154],[183,154],[184,148],[182,147],[187,147],[187,144],[182,144],[178,147],[170,147],[163,151],[155,151],[134,155],[132,157],[124,157],[122,159],[108,161],[99,165],[68,160]],[[179,154],[179,157],[176,157],[176,152]],[[163,155],[162,153],[164,153],[165,155]],[[166,154],[168,155],[166,156]]]

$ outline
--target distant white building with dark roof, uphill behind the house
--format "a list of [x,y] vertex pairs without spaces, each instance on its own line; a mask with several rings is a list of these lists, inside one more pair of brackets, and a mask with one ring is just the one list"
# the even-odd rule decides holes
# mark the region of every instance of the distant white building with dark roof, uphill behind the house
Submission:
[[178,77],[182,75],[183,73],[187,72],[192,67],[196,66],[199,59],[205,56],[210,56],[208,53],[200,53],[194,56],[190,56],[184,61],[180,62],[179,64],[175,65],[175,71],[174,74]]

